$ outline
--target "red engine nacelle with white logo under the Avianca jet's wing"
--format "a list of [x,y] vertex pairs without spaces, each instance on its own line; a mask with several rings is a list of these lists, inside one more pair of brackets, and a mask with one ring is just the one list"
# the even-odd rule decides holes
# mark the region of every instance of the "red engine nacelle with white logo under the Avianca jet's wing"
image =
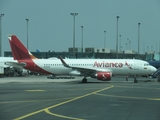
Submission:
[[112,73],[110,72],[97,72],[96,75],[97,80],[109,81],[111,80]]

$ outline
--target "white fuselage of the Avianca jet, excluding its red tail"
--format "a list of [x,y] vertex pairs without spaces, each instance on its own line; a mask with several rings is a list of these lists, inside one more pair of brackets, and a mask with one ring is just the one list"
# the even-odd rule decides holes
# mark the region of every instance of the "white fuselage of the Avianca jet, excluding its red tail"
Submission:
[[[113,75],[147,75],[156,71],[148,62],[136,59],[64,59],[69,66],[111,72]],[[71,68],[65,67],[60,59],[33,59],[41,69],[55,75],[69,75]],[[35,68],[36,70],[39,68]],[[75,70],[76,71],[76,70]]]

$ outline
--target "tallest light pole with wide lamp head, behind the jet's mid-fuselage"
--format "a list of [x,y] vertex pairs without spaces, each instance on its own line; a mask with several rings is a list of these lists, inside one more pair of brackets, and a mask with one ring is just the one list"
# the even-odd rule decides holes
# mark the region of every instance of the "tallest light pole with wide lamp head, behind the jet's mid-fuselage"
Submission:
[[73,16],[73,57],[75,57],[75,16],[78,13],[70,13]]

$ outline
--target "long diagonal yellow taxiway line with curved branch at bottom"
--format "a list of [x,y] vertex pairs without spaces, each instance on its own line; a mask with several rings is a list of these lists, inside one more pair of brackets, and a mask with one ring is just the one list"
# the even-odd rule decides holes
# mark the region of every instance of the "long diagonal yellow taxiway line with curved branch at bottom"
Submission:
[[[53,105],[53,106],[49,106],[49,107],[47,107],[47,108],[44,108],[44,109],[41,109],[41,110],[38,110],[38,111],[35,111],[35,112],[32,112],[32,113],[29,113],[29,114],[24,115],[24,116],[21,116],[21,117],[19,117],[19,118],[14,119],[14,120],[21,120],[21,119],[30,117],[30,116],[32,116],[32,115],[38,114],[38,113],[40,113],[40,112],[44,112],[44,111],[45,111],[45,112],[46,112],[46,111],[48,112],[48,109],[51,109],[51,108],[55,108],[55,107],[64,105],[64,104],[66,104],[66,103],[69,103],[69,102],[72,102],[72,101],[75,101],[75,100],[78,100],[78,99],[87,97],[87,96],[89,96],[89,95],[96,94],[96,93],[98,93],[98,92],[101,92],[101,91],[104,91],[104,90],[107,90],[107,89],[110,89],[110,88],[113,88],[113,87],[114,87],[114,86],[112,85],[112,86],[109,86],[109,87],[106,87],[106,88],[103,88],[103,89],[100,89],[100,90],[97,90],[97,91],[94,91],[94,92],[91,92],[91,93],[88,93],[88,94],[85,94],[85,95],[82,95],[82,96],[79,96],[79,97],[75,97],[75,98],[73,98],[73,99],[70,99],[70,100],[61,102],[61,103],[59,103],[59,104],[55,104],[55,105]],[[52,114],[52,115],[54,115],[54,114]],[[56,114],[56,115],[58,115],[58,114]],[[59,115],[59,117],[60,117],[60,116],[62,117],[62,115]],[[65,116],[65,118],[67,118],[67,117]],[[71,118],[71,117],[68,117],[68,119],[70,119],[70,118]],[[79,119],[79,118],[77,118],[77,119]],[[79,120],[80,120],[80,119],[79,119]]]

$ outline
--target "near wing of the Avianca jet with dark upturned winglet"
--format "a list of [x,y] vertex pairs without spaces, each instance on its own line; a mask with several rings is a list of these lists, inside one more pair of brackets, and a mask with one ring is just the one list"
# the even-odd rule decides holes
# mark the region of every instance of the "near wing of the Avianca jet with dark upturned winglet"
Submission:
[[103,68],[88,68],[88,67],[72,67],[72,66],[69,66],[61,57],[59,57],[59,59],[61,60],[62,64],[67,67],[67,68],[71,68],[73,70],[77,70],[83,74],[87,74],[87,75],[90,75],[90,74],[93,74],[93,73],[96,73],[96,72],[112,72],[111,69],[103,69]]

